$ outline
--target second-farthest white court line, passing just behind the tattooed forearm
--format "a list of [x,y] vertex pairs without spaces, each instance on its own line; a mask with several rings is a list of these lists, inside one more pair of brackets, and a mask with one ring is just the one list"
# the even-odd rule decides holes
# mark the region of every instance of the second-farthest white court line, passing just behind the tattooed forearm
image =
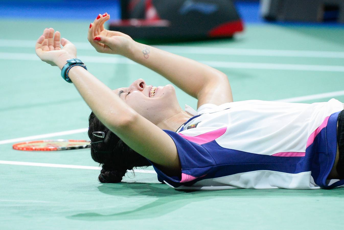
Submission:
[[[109,64],[136,64],[137,63],[123,57],[94,57],[80,56],[84,62],[109,63]],[[40,61],[35,54],[25,53],[0,53],[0,59]],[[301,64],[276,64],[276,63],[256,63],[256,62],[216,62],[198,61],[214,68],[227,69],[273,69],[273,70],[304,70],[320,72],[344,72],[344,66],[335,65],[301,65]]]

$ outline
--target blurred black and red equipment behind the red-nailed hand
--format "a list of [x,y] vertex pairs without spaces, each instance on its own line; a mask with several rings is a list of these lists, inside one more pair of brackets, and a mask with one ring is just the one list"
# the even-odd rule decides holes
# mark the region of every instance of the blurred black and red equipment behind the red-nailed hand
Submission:
[[232,37],[244,26],[232,0],[121,0],[121,20],[110,30],[133,39]]

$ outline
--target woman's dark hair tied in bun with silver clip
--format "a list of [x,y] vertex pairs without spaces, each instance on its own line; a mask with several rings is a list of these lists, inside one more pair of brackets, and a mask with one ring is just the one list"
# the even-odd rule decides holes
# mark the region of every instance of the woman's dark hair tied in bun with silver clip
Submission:
[[[88,118],[88,124],[88,137],[91,142],[101,141],[91,144],[92,159],[102,165],[98,176],[99,182],[117,183],[122,180],[127,170],[151,165],[145,157],[132,150],[115,133],[106,128],[93,112]],[[98,131],[105,132],[104,138],[92,134]]]

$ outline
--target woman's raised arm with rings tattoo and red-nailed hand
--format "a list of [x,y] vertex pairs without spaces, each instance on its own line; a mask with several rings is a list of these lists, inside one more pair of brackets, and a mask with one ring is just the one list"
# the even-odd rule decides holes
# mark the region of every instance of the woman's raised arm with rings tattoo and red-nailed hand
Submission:
[[221,105],[233,101],[224,73],[189,58],[140,44],[121,32],[105,30],[104,22],[109,18],[108,14],[99,14],[90,24],[88,41],[98,52],[120,54],[152,69],[197,98],[197,108],[205,103]]

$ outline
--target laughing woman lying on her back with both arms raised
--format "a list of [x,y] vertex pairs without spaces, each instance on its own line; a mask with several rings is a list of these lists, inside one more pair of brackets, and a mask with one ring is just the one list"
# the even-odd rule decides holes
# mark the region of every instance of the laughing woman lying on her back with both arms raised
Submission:
[[98,52],[154,70],[198,103],[197,111],[183,110],[172,85],[143,79],[111,90],[75,59],[71,42],[45,29],[37,55],[60,67],[93,111],[88,135],[92,158],[103,168],[100,182],[120,182],[127,170],[153,165],[159,181],[176,189],[344,185],[343,103],[233,102],[225,74],[108,31],[109,18],[99,15],[89,26],[88,40]]

